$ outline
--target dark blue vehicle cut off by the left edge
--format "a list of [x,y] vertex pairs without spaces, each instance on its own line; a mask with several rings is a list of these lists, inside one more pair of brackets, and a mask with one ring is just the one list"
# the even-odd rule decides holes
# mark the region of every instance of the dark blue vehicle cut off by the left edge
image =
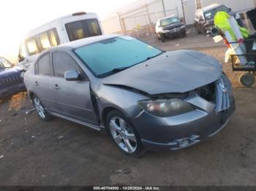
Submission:
[[0,98],[26,90],[23,74],[23,69],[0,57]]

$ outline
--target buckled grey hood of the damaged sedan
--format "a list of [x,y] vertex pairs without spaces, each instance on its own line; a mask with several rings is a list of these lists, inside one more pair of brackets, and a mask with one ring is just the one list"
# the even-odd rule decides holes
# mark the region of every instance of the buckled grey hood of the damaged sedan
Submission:
[[185,93],[219,79],[222,66],[215,58],[192,50],[176,50],[102,79],[105,85],[133,87],[154,95]]

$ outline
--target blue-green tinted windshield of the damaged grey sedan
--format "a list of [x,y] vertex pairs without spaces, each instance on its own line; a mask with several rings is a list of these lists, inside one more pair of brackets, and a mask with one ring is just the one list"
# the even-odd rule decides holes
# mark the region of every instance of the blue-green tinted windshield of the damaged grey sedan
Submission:
[[78,58],[97,77],[105,77],[135,66],[162,52],[130,36],[105,39],[75,49]]

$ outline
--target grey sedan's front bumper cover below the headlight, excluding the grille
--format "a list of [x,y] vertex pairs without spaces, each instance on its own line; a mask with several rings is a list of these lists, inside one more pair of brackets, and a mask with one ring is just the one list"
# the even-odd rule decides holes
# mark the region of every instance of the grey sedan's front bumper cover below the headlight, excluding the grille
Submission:
[[147,150],[183,149],[219,133],[235,111],[235,101],[222,112],[195,110],[176,117],[155,117],[143,112],[132,122],[138,127],[143,147]]

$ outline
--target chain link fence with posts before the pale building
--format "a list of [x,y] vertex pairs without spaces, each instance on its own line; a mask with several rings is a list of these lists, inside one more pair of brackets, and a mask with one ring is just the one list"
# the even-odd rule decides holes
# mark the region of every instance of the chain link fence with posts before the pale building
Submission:
[[[129,11],[117,12],[117,15],[108,17],[102,22],[102,25],[106,34],[127,34],[138,38],[154,35],[157,20],[170,15],[179,16],[176,5],[172,6],[172,9],[170,6],[168,9],[166,8],[163,0],[136,4]],[[114,23],[118,23],[118,26]]]

